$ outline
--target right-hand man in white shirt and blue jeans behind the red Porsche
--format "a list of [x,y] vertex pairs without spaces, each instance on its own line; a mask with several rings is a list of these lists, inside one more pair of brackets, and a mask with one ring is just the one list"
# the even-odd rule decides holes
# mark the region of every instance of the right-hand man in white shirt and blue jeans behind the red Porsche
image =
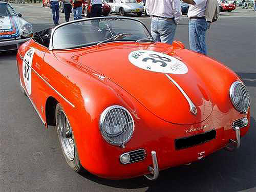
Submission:
[[189,48],[197,53],[207,55],[205,44],[206,30],[209,28],[209,22],[205,19],[205,9],[207,0],[183,0],[190,4],[187,12],[189,17],[188,33]]

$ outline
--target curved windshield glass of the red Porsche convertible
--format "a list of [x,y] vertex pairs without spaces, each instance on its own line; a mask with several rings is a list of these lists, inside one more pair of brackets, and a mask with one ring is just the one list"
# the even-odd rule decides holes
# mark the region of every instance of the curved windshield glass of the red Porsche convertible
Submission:
[[136,41],[151,37],[137,20],[108,17],[60,26],[53,33],[53,49],[86,47],[109,41]]

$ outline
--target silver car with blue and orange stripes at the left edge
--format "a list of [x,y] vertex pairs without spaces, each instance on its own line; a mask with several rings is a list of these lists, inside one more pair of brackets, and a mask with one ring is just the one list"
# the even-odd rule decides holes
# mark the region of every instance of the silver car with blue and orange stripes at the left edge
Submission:
[[32,25],[21,17],[10,4],[0,2],[0,52],[18,49],[33,36]]

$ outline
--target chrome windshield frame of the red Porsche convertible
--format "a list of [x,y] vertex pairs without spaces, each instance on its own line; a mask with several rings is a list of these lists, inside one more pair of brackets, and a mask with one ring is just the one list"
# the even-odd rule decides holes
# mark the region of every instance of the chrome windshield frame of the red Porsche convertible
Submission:
[[[129,20],[135,20],[136,22],[139,22],[140,24],[142,24],[142,26],[146,29],[147,33],[149,34],[148,37],[152,37],[152,34],[151,32],[147,29],[147,27],[145,26],[145,24],[143,24],[140,20],[138,19],[134,19],[134,18],[130,18],[130,17],[118,17],[118,16],[108,16],[108,17],[93,17],[93,18],[84,18],[84,19],[78,19],[78,20],[72,20],[71,22],[67,22],[67,23],[63,23],[63,24],[60,24],[58,26],[56,26],[55,28],[53,28],[52,30],[52,33],[51,33],[51,38],[50,38],[50,44],[49,44],[49,51],[53,51],[53,50],[72,50],[72,49],[78,49],[78,48],[87,48],[87,47],[92,47],[92,46],[97,46],[97,43],[93,43],[93,44],[88,44],[88,46],[84,46],[84,47],[74,47],[74,48],[62,48],[62,49],[59,49],[59,48],[54,48],[53,47],[53,35],[54,35],[54,32],[62,27],[62,26],[65,26],[65,25],[69,25],[69,24],[74,24],[74,23],[78,23],[78,22],[83,22],[83,21],[89,21],[89,20],[95,20],[95,19],[111,19],[111,18],[117,18],[117,19],[129,19]],[[113,41],[111,41],[113,42]],[[115,40],[114,42],[120,42],[120,40]],[[124,40],[121,40],[121,42],[133,42],[131,40],[127,40],[127,41],[124,41]],[[135,41],[134,41],[135,42]],[[105,43],[108,43],[108,42],[104,42]]]

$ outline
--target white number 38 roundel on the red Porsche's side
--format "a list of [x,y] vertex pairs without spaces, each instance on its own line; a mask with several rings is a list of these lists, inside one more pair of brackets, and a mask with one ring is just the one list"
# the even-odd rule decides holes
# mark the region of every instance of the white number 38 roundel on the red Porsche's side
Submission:
[[22,62],[23,79],[27,93],[31,94],[31,65],[34,56],[34,49],[30,49],[26,52]]

